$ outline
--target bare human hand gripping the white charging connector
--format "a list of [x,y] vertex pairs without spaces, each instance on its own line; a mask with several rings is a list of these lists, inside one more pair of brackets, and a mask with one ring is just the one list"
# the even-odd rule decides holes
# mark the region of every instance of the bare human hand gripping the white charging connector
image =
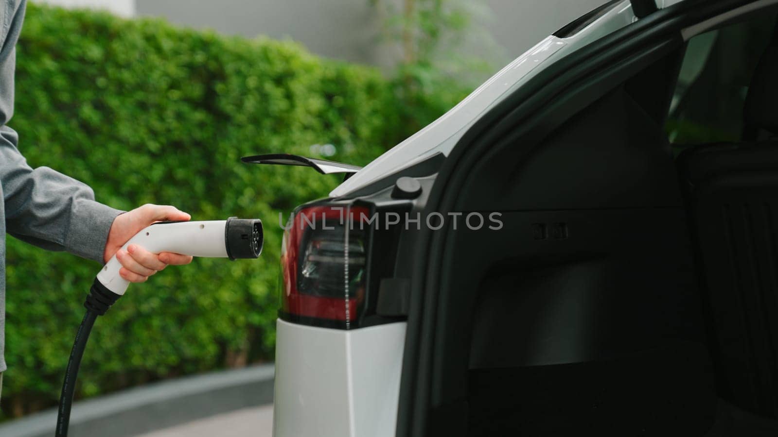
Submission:
[[129,212],[117,215],[108,231],[108,240],[103,252],[103,262],[108,262],[116,254],[119,264],[119,276],[130,282],[145,282],[152,274],[163,270],[168,264],[182,265],[191,263],[192,257],[178,253],[151,253],[136,244],[121,249],[124,243],[154,222],[186,222],[191,218],[186,212],[173,206],[146,204]]

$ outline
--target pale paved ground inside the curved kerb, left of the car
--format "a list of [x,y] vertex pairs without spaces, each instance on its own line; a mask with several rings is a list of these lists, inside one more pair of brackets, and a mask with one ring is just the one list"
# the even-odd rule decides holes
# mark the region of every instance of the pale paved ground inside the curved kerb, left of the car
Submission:
[[271,437],[273,406],[244,408],[137,437]]

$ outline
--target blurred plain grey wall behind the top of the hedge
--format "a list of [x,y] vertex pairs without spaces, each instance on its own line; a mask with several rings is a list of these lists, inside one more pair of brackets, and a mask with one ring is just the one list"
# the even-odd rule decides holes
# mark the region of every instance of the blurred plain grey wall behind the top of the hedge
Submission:
[[[501,47],[496,54],[499,64],[606,2],[482,1],[491,9],[482,21],[489,37]],[[288,38],[316,54],[345,61],[386,66],[398,55],[393,47],[381,44],[380,16],[370,0],[136,0],[135,11],[138,16],[163,16],[173,23],[220,33]],[[463,44],[462,50],[478,51],[478,44]]]

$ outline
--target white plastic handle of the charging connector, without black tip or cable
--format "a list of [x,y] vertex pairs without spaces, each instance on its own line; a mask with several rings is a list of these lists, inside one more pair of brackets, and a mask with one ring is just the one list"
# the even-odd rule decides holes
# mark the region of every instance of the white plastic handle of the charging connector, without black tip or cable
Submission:
[[[226,220],[158,223],[135,234],[121,248],[127,250],[127,246],[136,244],[152,253],[173,252],[193,257],[226,258],[226,223]],[[124,295],[129,281],[119,276],[120,268],[116,255],[110,257],[97,274],[97,280],[117,295]]]

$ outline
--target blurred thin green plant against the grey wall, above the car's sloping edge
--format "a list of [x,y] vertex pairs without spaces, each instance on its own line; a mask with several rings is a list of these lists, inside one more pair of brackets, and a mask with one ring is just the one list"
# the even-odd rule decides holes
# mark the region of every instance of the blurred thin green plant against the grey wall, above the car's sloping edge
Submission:
[[407,125],[422,128],[506,61],[485,29],[484,0],[368,1],[381,12],[385,42],[401,54],[394,86]]

